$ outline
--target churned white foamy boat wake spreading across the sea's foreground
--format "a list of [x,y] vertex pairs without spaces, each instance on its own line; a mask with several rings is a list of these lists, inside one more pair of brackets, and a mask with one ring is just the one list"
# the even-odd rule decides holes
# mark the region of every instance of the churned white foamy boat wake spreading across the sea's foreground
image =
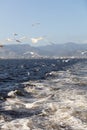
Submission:
[[87,70],[80,66],[52,72],[56,78],[24,82],[20,90],[24,96],[16,91],[2,102],[2,108],[14,110],[15,115],[10,119],[11,114],[2,114],[1,130],[87,130],[87,75],[82,76],[82,70]]

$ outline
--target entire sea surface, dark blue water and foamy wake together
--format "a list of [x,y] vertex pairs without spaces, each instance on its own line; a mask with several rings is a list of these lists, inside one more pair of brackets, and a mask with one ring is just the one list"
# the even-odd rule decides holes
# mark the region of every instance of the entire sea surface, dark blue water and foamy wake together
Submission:
[[87,60],[1,60],[0,130],[87,130]]

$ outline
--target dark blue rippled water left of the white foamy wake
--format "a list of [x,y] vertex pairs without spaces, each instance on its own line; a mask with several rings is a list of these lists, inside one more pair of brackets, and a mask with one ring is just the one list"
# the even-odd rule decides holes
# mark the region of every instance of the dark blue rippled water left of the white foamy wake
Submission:
[[51,71],[63,70],[78,61],[78,59],[0,60],[0,95],[20,87],[25,81],[45,80]]

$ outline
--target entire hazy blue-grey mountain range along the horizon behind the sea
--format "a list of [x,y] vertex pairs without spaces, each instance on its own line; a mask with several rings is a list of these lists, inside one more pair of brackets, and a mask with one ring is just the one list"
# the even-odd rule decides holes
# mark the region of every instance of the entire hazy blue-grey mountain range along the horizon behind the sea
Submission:
[[0,48],[0,58],[45,58],[45,57],[87,57],[87,44],[65,43],[46,46],[29,44],[5,45]]

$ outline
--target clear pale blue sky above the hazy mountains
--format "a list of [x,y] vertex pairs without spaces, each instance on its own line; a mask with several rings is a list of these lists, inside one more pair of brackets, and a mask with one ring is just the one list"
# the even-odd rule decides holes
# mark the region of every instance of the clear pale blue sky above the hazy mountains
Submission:
[[[32,27],[34,23],[40,24]],[[87,1],[0,0],[0,39],[12,37],[13,33],[20,37],[46,36],[56,43],[85,42]]]

